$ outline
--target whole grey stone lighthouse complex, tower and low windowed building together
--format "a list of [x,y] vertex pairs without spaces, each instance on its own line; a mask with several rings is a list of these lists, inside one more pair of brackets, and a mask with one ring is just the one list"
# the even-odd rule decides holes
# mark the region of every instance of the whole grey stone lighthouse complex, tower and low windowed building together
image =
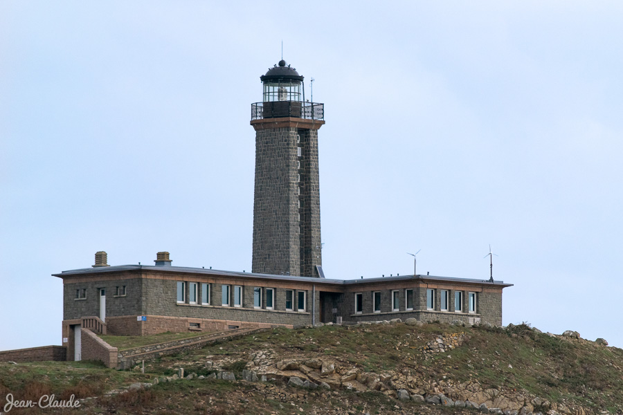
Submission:
[[150,335],[397,317],[501,325],[502,291],[512,284],[431,275],[325,278],[318,180],[324,107],[307,102],[303,77],[283,60],[260,79],[263,101],[251,106],[253,272],[172,266],[169,252],[158,252],[154,266],[109,266],[106,252],[97,252],[91,268],[54,275],[63,281],[67,357],[80,359],[82,328]]

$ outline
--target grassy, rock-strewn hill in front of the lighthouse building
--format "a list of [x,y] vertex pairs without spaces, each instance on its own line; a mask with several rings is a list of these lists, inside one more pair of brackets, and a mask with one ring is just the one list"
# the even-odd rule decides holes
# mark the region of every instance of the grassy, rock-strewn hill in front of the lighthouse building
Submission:
[[[444,394],[507,411],[620,414],[620,365],[620,349],[540,333],[525,324],[507,329],[401,323],[273,329],[148,362],[145,374],[92,362],[0,364],[0,404],[9,392],[19,399],[46,392],[62,398],[99,396],[82,403],[82,414],[477,413],[397,400],[397,390],[404,389],[409,395]],[[247,369],[267,381],[164,381],[180,367],[186,375],[231,371],[237,379]],[[330,389],[289,386],[291,376],[326,382]],[[102,396],[156,378],[158,384],[149,389]],[[22,413],[37,413],[36,408],[28,411]]]

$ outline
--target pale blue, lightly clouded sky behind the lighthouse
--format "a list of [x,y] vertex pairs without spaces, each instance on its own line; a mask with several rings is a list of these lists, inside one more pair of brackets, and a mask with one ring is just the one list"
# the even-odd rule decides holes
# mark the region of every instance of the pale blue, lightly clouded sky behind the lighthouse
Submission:
[[623,347],[620,1],[0,2],[0,350],[62,281],[251,270],[260,75],[314,77],[327,278],[487,279],[504,324]]

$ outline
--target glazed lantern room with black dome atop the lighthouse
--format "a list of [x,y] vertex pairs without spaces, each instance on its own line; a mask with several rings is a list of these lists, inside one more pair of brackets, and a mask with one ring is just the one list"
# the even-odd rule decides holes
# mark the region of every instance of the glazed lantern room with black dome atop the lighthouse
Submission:
[[264,102],[303,101],[303,77],[283,59],[270,68],[266,75],[260,76],[260,80],[264,84]]

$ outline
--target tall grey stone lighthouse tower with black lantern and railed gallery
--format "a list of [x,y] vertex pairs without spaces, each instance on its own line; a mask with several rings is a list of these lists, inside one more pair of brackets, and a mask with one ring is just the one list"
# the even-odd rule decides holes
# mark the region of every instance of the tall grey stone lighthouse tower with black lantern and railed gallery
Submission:
[[255,129],[253,273],[324,277],[318,129],[324,105],[305,100],[303,77],[284,60],[260,77]]

